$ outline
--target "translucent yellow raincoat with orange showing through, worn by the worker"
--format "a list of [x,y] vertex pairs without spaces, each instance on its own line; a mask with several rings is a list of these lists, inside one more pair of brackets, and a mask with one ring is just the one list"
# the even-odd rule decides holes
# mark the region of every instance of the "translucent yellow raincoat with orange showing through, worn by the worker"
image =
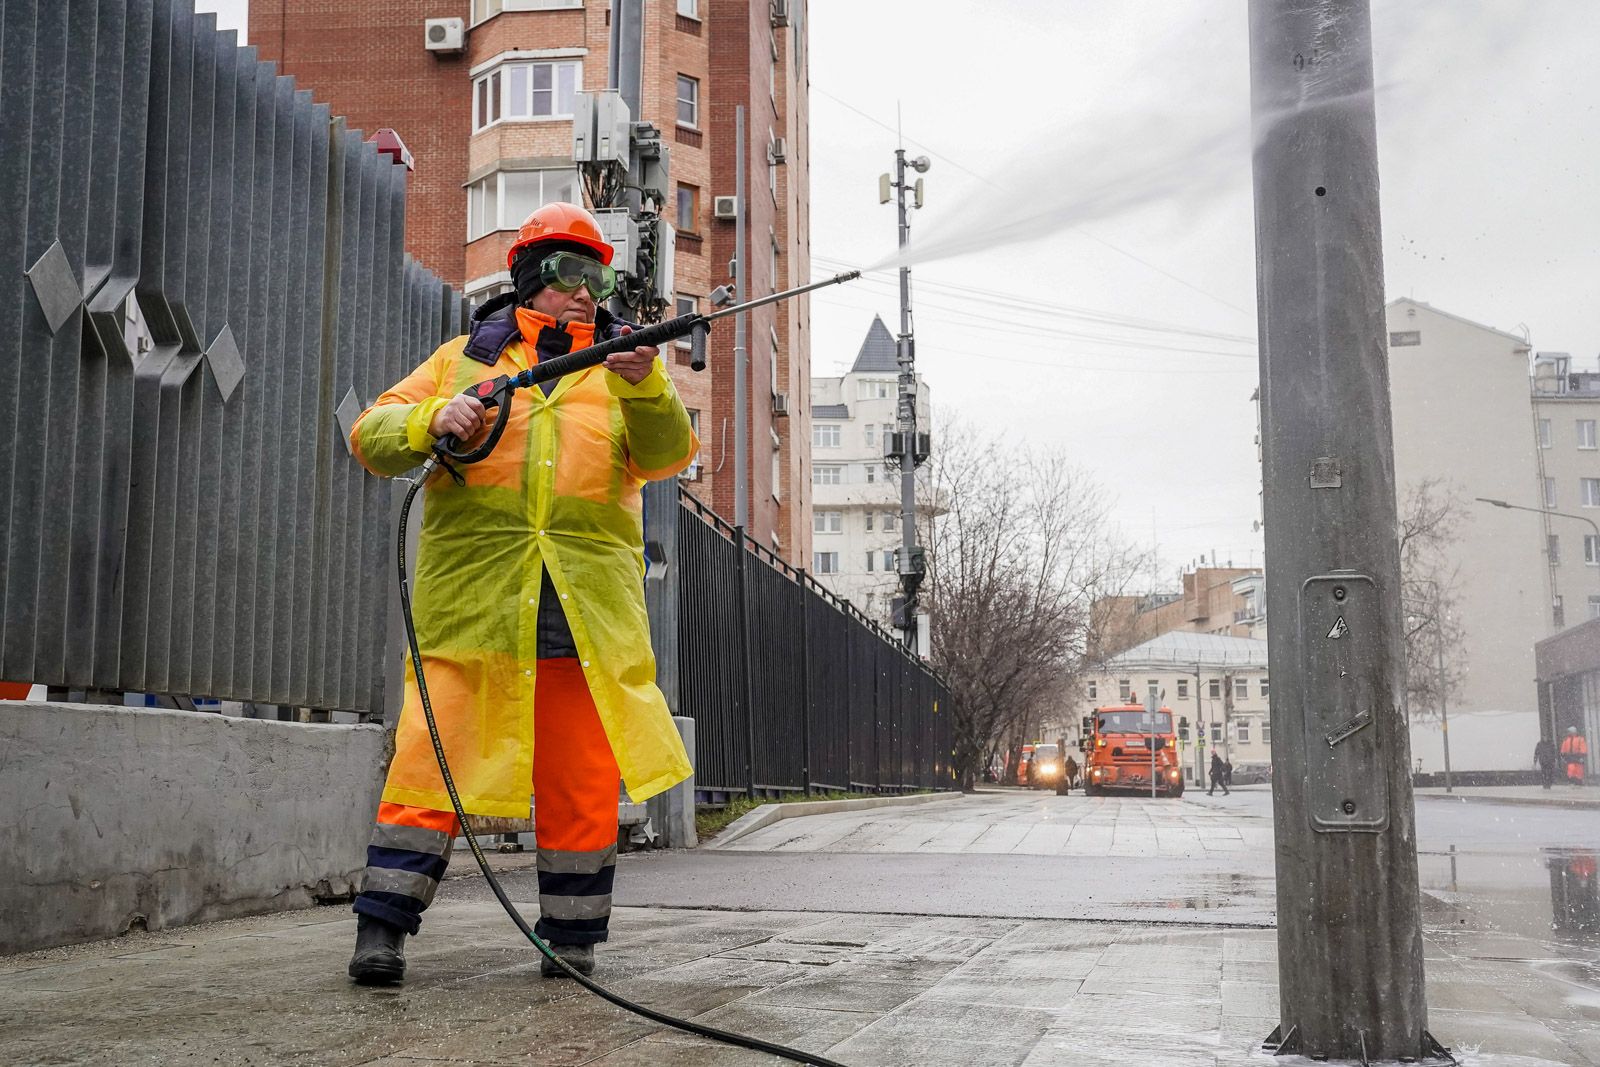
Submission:
[[[555,323],[517,309],[520,338],[491,368],[440,346],[362,413],[350,445],[378,475],[403,474],[434,445],[427,426],[451,397],[538,362],[533,339]],[[570,323],[573,350],[594,338]],[[563,600],[600,721],[629,795],[645,800],[690,776],[688,753],[656,688],[645,616],[640,488],[683,470],[699,448],[661,360],[630,386],[603,366],[514,394],[494,453],[462,466],[466,485],[435,474],[424,490],[413,582],[418,645],[462,806],[526,817],[533,781],[533,681],[542,568]],[[450,809],[416,680],[384,800]]]

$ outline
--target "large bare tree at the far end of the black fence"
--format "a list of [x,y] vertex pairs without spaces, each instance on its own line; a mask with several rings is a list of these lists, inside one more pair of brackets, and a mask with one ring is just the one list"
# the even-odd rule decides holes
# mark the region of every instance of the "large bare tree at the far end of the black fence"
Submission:
[[955,771],[1037,728],[1072,683],[1090,606],[1120,593],[1142,557],[1109,533],[1101,490],[1059,456],[947,426],[922,485],[926,606],[936,669],[955,704]]

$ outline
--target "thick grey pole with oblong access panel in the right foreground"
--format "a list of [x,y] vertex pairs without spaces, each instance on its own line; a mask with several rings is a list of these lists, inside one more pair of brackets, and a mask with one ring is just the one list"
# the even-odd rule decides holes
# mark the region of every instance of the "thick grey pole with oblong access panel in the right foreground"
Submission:
[[1368,0],[1251,0],[1280,1054],[1427,1033]]

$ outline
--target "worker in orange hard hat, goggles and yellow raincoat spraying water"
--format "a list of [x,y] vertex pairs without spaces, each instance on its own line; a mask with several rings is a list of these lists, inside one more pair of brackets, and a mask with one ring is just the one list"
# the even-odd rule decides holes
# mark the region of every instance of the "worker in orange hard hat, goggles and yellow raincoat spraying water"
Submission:
[[[362,413],[350,430],[362,466],[398,475],[445,434],[470,443],[485,410],[462,390],[626,333],[600,306],[616,288],[611,254],[581,206],[528,216],[507,254],[515,291]],[[418,645],[462,808],[526,819],[531,785],[534,929],[584,974],[611,913],[619,777],[642,801],[691,769],[654,681],[640,490],[683,470],[699,442],[658,355],[618,352],[514,392],[498,448],[461,466],[464,485],[427,483],[416,553]],[[403,979],[405,936],[459,830],[408,670],[355,897],[352,979]]]

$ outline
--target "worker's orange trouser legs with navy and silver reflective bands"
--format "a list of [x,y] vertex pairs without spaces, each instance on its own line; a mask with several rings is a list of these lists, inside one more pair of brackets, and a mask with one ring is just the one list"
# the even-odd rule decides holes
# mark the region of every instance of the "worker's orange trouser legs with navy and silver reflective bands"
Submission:
[[[533,733],[539,878],[534,931],[555,944],[605,941],[616,875],[619,777],[576,659],[539,661]],[[451,811],[379,803],[355,910],[414,934],[458,832]]]

